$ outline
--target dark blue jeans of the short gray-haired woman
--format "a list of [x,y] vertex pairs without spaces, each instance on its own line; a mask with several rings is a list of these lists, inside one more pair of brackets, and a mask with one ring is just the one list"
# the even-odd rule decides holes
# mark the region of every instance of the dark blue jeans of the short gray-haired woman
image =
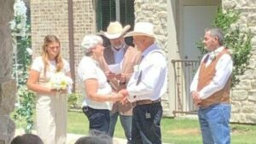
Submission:
[[90,107],[83,107],[83,112],[88,118],[90,130],[99,130],[108,134],[110,118],[110,111],[106,109],[94,109]]

